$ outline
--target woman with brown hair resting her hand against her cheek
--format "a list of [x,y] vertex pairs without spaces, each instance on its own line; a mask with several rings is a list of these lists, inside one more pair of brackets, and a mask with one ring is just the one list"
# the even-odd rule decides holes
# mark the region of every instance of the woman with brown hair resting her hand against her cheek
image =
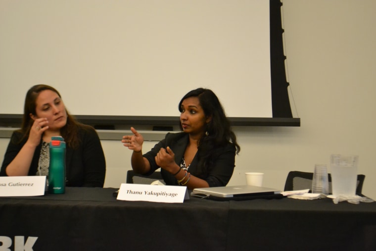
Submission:
[[106,162],[97,133],[76,121],[57,90],[47,85],[27,92],[22,125],[11,136],[0,176],[48,176],[53,136],[66,142],[66,186],[103,187]]

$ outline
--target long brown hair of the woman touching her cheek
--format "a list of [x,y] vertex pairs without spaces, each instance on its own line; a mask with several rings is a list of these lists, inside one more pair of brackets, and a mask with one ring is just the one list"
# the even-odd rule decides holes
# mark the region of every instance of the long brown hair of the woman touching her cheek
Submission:
[[[30,117],[30,114],[36,115],[36,100],[39,94],[45,90],[50,90],[56,93],[59,98],[61,98],[60,93],[55,88],[48,85],[35,85],[29,89],[25,97],[24,114],[22,118],[21,128],[18,130],[18,132],[23,134],[20,142],[29,137],[31,126],[34,123],[34,120]],[[67,110],[66,113],[67,123],[60,129],[60,134],[64,138],[64,141],[67,143],[67,145],[75,149],[80,144],[79,137],[77,137],[79,128],[87,128],[88,126],[78,122],[72,115],[69,114]],[[20,142],[18,142],[18,144]]]

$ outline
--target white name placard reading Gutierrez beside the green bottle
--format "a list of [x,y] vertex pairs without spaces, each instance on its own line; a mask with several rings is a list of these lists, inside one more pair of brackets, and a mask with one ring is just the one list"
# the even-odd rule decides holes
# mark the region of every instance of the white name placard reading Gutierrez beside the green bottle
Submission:
[[0,197],[45,195],[46,176],[0,177]]

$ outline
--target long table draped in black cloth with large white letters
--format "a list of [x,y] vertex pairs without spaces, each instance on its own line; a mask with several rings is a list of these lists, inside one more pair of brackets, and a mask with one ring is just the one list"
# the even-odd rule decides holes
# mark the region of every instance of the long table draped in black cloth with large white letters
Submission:
[[0,250],[376,250],[376,202],[162,203],[119,201],[116,190],[0,198]]

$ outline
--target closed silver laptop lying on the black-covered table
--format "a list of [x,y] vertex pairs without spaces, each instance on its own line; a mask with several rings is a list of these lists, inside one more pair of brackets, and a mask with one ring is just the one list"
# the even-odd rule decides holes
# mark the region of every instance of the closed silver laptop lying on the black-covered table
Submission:
[[274,188],[255,187],[255,186],[227,186],[227,187],[210,187],[210,188],[195,188],[191,195],[197,196],[216,196],[222,198],[232,197],[246,197],[246,196],[262,196],[262,195],[277,195],[281,191]]

